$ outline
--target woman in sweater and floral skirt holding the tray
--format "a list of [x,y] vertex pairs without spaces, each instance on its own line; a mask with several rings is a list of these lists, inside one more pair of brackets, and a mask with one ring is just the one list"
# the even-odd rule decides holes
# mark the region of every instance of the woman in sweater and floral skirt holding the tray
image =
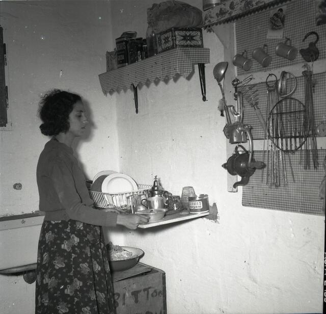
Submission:
[[42,134],[51,137],[37,165],[41,228],[36,280],[37,314],[114,313],[101,226],[135,229],[139,215],[96,210],[71,145],[88,124],[79,95],[53,90],[41,102]]

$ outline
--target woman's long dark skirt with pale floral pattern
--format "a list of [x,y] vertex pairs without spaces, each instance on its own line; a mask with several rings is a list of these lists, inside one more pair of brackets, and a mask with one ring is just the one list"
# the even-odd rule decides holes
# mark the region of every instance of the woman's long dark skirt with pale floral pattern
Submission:
[[36,314],[114,314],[102,228],[44,221],[38,246]]

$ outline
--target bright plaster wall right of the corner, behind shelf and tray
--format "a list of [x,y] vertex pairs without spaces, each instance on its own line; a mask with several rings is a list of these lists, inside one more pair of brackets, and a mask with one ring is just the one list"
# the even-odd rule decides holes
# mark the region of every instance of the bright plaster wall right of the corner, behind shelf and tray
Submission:
[[[201,7],[200,1],[188,3]],[[135,6],[138,20],[130,20],[127,2],[112,4],[114,38],[126,29],[145,34],[138,21],[146,20],[146,12]],[[207,193],[219,219],[132,231],[125,245],[142,248],[144,263],[166,271],[169,313],[321,312],[323,218],[243,207],[241,187],[227,192],[221,167],[227,160],[225,118],[217,110],[221,93],[212,74],[224,61],[224,49],[214,33],[203,35],[211,49],[205,68],[208,101],[201,100],[196,66],[188,79],[139,88],[138,115],[132,91],[121,92],[119,162],[120,171],[138,182],[151,184],[158,175],[162,186],[178,195],[188,185]],[[231,69],[227,75],[234,75]]]

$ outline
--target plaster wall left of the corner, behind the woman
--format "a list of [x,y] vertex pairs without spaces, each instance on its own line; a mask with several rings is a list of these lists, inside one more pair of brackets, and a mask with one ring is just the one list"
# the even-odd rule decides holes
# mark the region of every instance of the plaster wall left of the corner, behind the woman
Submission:
[[[91,127],[75,149],[87,178],[118,170],[115,96],[109,103],[98,81],[112,42],[110,16],[107,1],[0,2],[12,121],[12,127],[0,131],[0,216],[38,210],[36,165],[48,139],[40,133],[37,110],[40,96],[52,88],[85,97]],[[16,182],[21,190],[13,189]],[[16,247],[22,261],[35,263],[39,231],[40,225],[0,231],[1,248],[11,247],[0,252],[1,262],[17,256],[11,254]],[[33,313],[34,291],[35,283],[21,275],[0,275],[0,313]]]

